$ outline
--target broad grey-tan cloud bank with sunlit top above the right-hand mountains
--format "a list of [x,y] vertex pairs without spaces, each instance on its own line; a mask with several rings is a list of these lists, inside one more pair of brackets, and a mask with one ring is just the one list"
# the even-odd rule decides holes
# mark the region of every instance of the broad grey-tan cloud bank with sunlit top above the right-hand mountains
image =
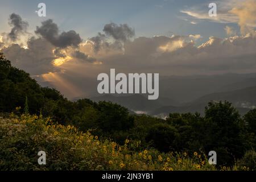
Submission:
[[250,35],[225,39],[210,37],[196,46],[191,36],[139,37],[125,43],[125,52],[101,57],[106,69],[160,75],[218,74],[256,71],[256,38]]

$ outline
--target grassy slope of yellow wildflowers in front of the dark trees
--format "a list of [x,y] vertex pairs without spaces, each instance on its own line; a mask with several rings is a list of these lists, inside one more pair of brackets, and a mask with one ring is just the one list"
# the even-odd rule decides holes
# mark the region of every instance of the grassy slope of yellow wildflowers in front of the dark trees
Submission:
[[[0,119],[0,135],[1,170],[216,170],[200,152],[193,152],[192,157],[152,148],[137,152],[139,143],[129,139],[119,145],[36,115]],[[46,166],[38,164],[41,150],[47,153]]]

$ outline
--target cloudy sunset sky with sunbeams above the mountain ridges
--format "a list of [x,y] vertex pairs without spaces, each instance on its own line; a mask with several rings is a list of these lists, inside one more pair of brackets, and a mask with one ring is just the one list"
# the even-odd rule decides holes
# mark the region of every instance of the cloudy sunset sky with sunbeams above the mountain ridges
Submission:
[[[46,4],[46,17],[35,12]],[[210,17],[209,3],[217,16]],[[67,97],[117,72],[256,72],[256,0],[0,0],[0,51]]]

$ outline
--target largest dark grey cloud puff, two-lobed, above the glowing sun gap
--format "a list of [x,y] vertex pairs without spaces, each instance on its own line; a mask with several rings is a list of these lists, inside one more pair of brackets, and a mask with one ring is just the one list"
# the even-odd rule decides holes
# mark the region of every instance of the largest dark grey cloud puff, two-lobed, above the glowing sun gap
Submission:
[[52,19],[42,22],[42,26],[36,27],[35,33],[48,40],[53,46],[60,48],[77,47],[82,42],[80,35],[73,30],[59,34],[59,27],[53,23]]

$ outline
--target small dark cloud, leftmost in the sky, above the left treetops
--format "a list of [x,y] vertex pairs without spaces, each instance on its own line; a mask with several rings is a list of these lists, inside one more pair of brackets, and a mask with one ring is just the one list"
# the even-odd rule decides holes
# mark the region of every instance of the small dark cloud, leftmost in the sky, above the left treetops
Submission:
[[11,41],[16,41],[20,34],[24,34],[27,31],[28,23],[23,21],[22,18],[17,14],[11,14],[9,19],[9,24],[11,27],[11,32],[8,34],[8,38]]

